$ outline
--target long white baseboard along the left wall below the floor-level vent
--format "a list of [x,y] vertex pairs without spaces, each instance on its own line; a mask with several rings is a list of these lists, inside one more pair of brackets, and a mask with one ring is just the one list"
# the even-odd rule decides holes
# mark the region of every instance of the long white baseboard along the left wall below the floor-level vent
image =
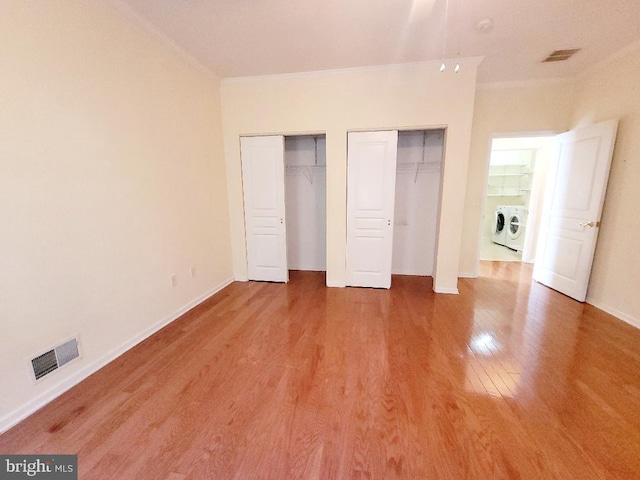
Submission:
[[194,299],[191,302],[189,302],[187,305],[185,305],[182,308],[180,308],[177,312],[174,312],[171,315],[163,318],[162,320],[160,320],[156,324],[152,325],[151,327],[149,327],[146,330],[142,331],[140,334],[136,335],[134,338],[132,338],[128,342],[125,342],[121,346],[111,350],[106,355],[103,355],[98,360],[92,362],[89,365],[86,365],[85,367],[83,367],[81,370],[77,371],[76,373],[74,373],[70,377],[68,377],[68,378],[62,380],[61,382],[53,385],[51,388],[49,388],[45,392],[41,393],[40,395],[38,395],[33,400],[27,402],[22,407],[17,408],[14,411],[9,412],[8,414],[4,415],[2,418],[0,418],[0,433],[4,433],[7,430],[9,430],[11,427],[17,425],[22,420],[27,418],[29,415],[31,415],[31,414],[35,413],[36,411],[40,410],[46,404],[52,402],[53,400],[58,398],[60,395],[62,395],[64,392],[66,392],[67,390],[70,390],[71,388],[75,387],[77,384],[79,384],[85,378],[87,378],[90,375],[94,374],[95,372],[100,370],[102,367],[104,367],[108,363],[110,363],[113,360],[115,360],[116,358],[118,358],[120,355],[125,353],[127,350],[130,350],[131,348],[135,347],[137,344],[139,344],[143,340],[146,340],[151,335],[153,335],[157,331],[161,330],[162,328],[166,327],[171,322],[177,320],[180,316],[182,316],[183,314],[185,314],[186,312],[188,312],[192,308],[196,307],[197,305],[201,304],[202,302],[204,302],[208,298],[212,297],[213,295],[215,295],[216,293],[218,293],[220,290],[222,290],[227,285],[230,285],[231,283],[233,283],[233,278],[228,278],[228,279],[224,280],[222,283],[220,283],[217,286],[215,286],[212,290],[209,290],[208,292],[200,295],[196,299]]

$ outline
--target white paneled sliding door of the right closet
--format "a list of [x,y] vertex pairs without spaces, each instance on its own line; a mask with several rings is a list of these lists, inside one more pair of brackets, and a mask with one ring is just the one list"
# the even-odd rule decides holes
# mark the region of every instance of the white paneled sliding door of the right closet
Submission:
[[350,287],[391,287],[398,132],[350,132],[347,275]]

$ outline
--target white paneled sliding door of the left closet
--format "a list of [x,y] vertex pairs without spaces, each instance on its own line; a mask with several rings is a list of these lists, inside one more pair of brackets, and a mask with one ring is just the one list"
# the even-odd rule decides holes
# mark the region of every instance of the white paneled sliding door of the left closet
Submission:
[[284,137],[241,137],[249,280],[288,282]]

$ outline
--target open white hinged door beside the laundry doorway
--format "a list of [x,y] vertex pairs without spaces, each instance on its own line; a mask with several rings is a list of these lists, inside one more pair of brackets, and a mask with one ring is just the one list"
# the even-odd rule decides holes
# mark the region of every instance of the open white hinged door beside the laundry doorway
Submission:
[[556,137],[533,278],[584,302],[609,179],[617,120]]

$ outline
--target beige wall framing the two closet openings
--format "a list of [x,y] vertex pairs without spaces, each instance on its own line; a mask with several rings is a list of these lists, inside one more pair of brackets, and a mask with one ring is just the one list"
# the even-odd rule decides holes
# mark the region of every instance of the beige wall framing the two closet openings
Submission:
[[240,135],[326,132],[327,284],[345,284],[349,130],[447,127],[435,289],[457,288],[476,61],[459,74],[438,64],[362,69],[222,83],[225,156],[236,279],[247,278]]

